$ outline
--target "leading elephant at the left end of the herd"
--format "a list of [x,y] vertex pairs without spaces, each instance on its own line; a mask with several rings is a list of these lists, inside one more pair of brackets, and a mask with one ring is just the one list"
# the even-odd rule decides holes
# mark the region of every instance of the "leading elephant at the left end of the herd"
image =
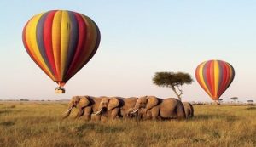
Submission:
[[[68,110],[63,118],[67,118],[70,115],[72,109],[75,107],[78,109],[78,113],[75,118],[85,116],[85,120],[90,120],[91,114],[98,110],[102,98],[96,98],[92,96],[73,96],[68,104]],[[100,116],[95,117],[96,120],[100,119]]]

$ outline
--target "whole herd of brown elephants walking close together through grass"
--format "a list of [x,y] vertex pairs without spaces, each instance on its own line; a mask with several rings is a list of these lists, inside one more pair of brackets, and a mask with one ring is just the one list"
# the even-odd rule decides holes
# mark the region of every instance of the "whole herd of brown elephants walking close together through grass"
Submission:
[[115,118],[137,118],[139,120],[186,119],[194,116],[193,106],[178,99],[160,99],[155,96],[140,98],[74,96],[63,118],[70,115],[73,108],[78,109],[75,118],[84,116],[85,120]]

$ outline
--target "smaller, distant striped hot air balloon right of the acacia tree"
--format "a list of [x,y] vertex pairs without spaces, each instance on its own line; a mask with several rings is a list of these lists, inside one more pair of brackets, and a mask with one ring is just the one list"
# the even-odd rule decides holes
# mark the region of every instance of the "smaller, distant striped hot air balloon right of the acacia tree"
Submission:
[[232,65],[222,60],[208,60],[197,66],[195,77],[207,94],[216,102],[229,88],[235,76]]

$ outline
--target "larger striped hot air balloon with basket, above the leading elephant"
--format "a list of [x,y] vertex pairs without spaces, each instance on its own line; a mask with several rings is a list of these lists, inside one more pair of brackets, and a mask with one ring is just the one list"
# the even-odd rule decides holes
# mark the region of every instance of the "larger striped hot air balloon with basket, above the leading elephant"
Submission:
[[53,10],[28,20],[22,40],[27,54],[59,85],[56,93],[86,65],[100,43],[96,23],[84,14]]

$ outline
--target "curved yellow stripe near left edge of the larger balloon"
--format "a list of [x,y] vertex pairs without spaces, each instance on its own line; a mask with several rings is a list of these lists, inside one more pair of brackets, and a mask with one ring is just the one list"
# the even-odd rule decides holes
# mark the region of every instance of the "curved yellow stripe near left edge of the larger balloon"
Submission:
[[30,49],[32,56],[38,60],[38,65],[42,66],[42,69],[44,72],[55,81],[55,77],[52,75],[52,73],[49,71],[48,66],[45,64],[44,59],[42,55],[40,54],[39,48],[38,48],[38,42],[37,42],[37,24],[38,20],[41,18],[42,14],[38,14],[30,20],[26,26],[26,41],[28,48]]

